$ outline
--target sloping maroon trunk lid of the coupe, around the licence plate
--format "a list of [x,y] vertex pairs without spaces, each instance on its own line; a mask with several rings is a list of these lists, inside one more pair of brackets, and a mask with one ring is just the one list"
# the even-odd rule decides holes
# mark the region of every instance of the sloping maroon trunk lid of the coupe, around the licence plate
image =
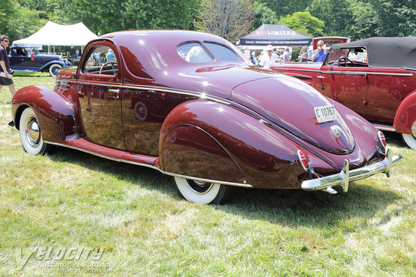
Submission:
[[331,103],[296,78],[279,75],[245,82],[232,90],[232,99],[322,150],[354,151],[354,137],[342,116],[337,112],[336,120],[318,123],[313,108]]

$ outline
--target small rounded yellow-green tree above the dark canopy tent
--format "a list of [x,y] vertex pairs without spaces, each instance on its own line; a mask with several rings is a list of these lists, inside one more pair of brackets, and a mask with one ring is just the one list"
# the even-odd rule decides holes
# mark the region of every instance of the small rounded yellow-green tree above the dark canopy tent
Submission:
[[322,29],[324,22],[316,17],[313,17],[310,12],[294,12],[293,15],[286,15],[280,17],[279,24],[286,24],[289,28],[309,35],[311,37],[322,36]]

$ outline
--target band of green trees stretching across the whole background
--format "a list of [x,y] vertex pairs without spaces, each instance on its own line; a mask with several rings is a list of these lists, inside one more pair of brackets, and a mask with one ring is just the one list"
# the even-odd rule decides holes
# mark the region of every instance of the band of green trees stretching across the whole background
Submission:
[[[48,20],[83,21],[97,35],[141,28],[205,30],[198,22],[214,19],[206,7],[218,1],[229,6],[243,3],[243,19],[252,24],[252,30],[261,24],[286,24],[312,37],[340,35],[355,40],[416,35],[416,0],[0,0],[0,34],[21,39]],[[214,16],[227,21],[230,15],[223,9]],[[218,35],[234,39],[219,30]]]

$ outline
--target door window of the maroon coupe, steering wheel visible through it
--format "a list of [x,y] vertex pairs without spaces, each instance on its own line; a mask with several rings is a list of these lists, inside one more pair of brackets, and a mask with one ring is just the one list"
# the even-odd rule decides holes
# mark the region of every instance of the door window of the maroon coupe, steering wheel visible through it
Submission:
[[89,54],[83,67],[84,73],[116,75],[119,66],[116,55],[109,46],[97,46]]

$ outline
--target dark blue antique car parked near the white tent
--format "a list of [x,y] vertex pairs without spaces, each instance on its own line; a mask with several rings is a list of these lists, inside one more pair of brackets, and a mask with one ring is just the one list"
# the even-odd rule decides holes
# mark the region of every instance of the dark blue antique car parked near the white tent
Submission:
[[[55,77],[58,71],[71,63],[59,55],[41,54],[40,46],[10,46],[10,68],[14,71],[44,71]],[[42,47],[42,46],[41,46]]]

